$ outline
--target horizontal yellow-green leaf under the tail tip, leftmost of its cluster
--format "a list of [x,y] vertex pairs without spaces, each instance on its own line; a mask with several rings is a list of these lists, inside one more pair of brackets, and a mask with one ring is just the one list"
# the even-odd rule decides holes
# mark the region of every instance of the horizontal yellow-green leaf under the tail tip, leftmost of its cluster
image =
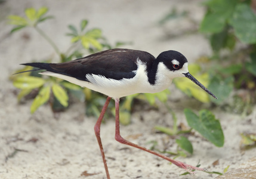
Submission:
[[35,76],[20,76],[16,80],[14,80],[13,85],[16,88],[28,90],[28,89],[42,87],[44,83],[45,83],[45,80],[42,78],[38,78]]

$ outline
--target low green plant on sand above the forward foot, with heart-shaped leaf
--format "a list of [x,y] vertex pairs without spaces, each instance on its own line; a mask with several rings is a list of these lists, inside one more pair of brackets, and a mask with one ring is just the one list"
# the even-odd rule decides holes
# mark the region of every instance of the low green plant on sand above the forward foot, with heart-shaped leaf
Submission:
[[177,118],[174,113],[172,113],[174,118],[172,129],[166,128],[165,126],[155,126],[156,130],[164,132],[165,134],[180,136],[175,142],[182,150],[177,149],[177,153],[171,153],[172,155],[186,157],[186,153],[183,151],[186,151],[190,155],[193,154],[192,143],[183,136],[183,134],[189,134],[193,129],[198,131],[204,138],[206,138],[206,140],[215,146],[222,147],[224,145],[224,134],[221,129],[220,121],[215,119],[215,116],[209,110],[201,110],[199,116],[190,109],[185,109],[184,113],[190,128],[186,127],[185,129],[179,129],[177,126]]

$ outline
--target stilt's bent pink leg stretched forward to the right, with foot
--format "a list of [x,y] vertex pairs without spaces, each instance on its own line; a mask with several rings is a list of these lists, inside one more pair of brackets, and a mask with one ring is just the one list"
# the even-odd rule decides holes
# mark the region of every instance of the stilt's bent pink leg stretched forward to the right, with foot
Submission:
[[124,138],[122,138],[122,136],[120,135],[120,129],[119,129],[119,99],[115,100],[115,106],[116,106],[116,134],[115,134],[115,139],[117,141],[119,141],[119,143],[127,144],[128,146],[136,147],[140,150],[144,150],[146,152],[152,153],[153,155],[159,156],[159,157],[165,159],[166,161],[169,161],[169,162],[173,163],[174,165],[177,165],[178,167],[185,169],[187,172],[190,172],[191,174],[195,173],[195,172],[192,171],[193,169],[200,170],[200,171],[205,171],[205,169],[203,169],[203,168],[198,168],[198,167],[195,167],[195,166],[187,165],[186,163],[183,163],[183,162],[180,162],[180,161],[175,161],[174,159],[168,158],[164,155],[161,155],[160,153],[156,153],[152,150],[146,149],[145,147],[138,146],[137,144],[131,143],[131,142],[125,140]]

